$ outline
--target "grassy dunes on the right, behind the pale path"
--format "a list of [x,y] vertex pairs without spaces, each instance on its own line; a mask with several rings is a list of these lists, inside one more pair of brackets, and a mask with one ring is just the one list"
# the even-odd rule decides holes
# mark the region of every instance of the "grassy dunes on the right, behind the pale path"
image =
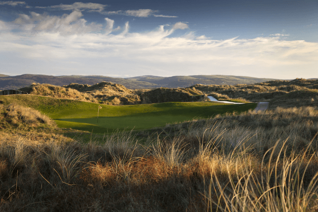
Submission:
[[[291,106],[315,106],[318,103],[317,79],[296,78],[292,81],[275,80],[237,85],[196,84],[190,88],[196,88],[204,94],[211,95],[218,100],[240,99],[247,102],[270,101],[270,109],[275,109],[277,106],[285,108]],[[305,93],[304,95],[294,95],[299,92]]]

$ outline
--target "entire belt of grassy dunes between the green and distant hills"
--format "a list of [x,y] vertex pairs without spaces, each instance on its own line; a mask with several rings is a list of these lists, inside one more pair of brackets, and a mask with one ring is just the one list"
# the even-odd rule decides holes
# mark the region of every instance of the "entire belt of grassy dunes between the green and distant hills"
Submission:
[[[187,88],[128,89],[111,82],[94,85],[71,83],[67,86],[35,84],[20,90],[42,96],[76,99],[108,105],[150,104],[160,102],[208,101],[213,96],[219,101],[263,102],[269,101],[270,109],[277,106],[315,106],[318,104],[318,80],[274,80],[255,84],[203,85]],[[305,92],[305,95],[298,95]]]

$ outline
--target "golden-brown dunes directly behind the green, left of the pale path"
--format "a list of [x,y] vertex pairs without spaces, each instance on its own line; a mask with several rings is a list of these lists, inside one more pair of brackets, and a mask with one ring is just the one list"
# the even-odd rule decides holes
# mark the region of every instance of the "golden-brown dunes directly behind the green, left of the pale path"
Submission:
[[21,91],[54,98],[76,99],[111,105],[149,104],[159,102],[192,102],[206,100],[206,95],[193,88],[158,88],[130,90],[123,85],[100,82],[94,85],[72,83],[67,86],[33,83]]

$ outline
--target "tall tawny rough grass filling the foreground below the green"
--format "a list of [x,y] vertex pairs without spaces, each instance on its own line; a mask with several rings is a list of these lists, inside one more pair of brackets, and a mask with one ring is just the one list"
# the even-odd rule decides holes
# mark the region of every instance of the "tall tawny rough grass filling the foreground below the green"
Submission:
[[193,120],[143,145],[132,132],[4,133],[0,211],[315,211],[317,109]]

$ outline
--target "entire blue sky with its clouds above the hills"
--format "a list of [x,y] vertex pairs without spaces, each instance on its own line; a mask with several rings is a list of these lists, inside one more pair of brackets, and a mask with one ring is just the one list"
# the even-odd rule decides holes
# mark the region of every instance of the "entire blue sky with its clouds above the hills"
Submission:
[[318,1],[0,1],[0,73],[318,78]]

